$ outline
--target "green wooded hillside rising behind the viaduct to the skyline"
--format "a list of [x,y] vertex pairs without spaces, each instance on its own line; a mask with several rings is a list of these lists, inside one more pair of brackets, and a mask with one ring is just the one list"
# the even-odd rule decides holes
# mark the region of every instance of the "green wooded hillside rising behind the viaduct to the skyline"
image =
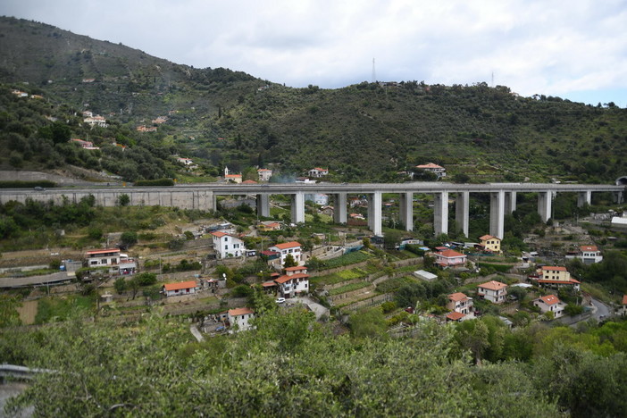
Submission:
[[[0,82],[53,107],[105,115],[111,127],[91,132],[96,144],[113,137],[142,146],[151,134],[136,127],[174,114],[150,148],[175,149],[213,175],[224,165],[271,164],[284,174],[323,166],[332,180],[399,181],[399,171],[428,162],[473,181],[609,182],[625,174],[627,110],[612,103],[520,97],[485,83],[286,88],[13,18],[0,18],[0,51]],[[16,119],[10,105],[3,110]]]

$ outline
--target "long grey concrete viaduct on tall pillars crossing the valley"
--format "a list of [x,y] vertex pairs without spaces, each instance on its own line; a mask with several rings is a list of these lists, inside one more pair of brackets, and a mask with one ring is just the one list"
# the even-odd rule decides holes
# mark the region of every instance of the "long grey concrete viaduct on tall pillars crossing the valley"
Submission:
[[[617,181],[617,183],[619,183]],[[267,183],[267,184],[197,184],[172,187],[99,187],[90,188],[50,188],[2,189],[0,203],[10,200],[25,202],[27,198],[37,201],[53,200],[62,203],[63,196],[70,202],[88,195],[96,197],[97,205],[116,205],[118,196],[130,197],[130,205],[178,206],[183,209],[215,210],[216,196],[255,195],[257,213],[270,216],[270,195],[289,195],[292,199],[292,222],[305,222],[305,194],[324,193],[333,196],[334,221],[347,222],[347,195],[365,195],[368,200],[368,226],[375,235],[381,235],[381,195],[394,193],[400,196],[400,220],[407,230],[414,227],[414,193],[434,195],[435,234],[448,230],[448,201],[454,195],[456,200],[456,225],[468,235],[469,201],[471,193],[489,193],[490,215],[489,234],[498,238],[504,235],[506,213],[516,209],[516,193],[538,193],[538,213],[543,222],[551,217],[551,205],[556,193],[577,193],[579,206],[590,204],[593,192],[612,192],[616,202],[623,202],[625,185],[602,184],[543,184],[543,183],[487,183],[455,184],[446,182],[414,182],[391,184],[368,183]],[[451,196],[452,197],[452,196]]]

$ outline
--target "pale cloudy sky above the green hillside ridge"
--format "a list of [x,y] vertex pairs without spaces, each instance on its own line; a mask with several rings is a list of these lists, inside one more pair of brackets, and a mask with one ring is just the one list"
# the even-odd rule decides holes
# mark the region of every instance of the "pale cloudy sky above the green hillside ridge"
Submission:
[[[627,0],[1,0],[0,14],[292,87],[505,85],[627,106]],[[1,52],[0,52],[1,54]]]

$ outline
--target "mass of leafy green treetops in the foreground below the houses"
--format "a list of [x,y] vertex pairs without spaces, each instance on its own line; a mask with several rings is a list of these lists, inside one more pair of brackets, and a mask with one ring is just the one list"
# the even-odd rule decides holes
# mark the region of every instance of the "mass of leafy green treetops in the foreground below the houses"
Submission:
[[[5,413],[34,405],[41,416],[553,417],[570,404],[549,395],[585,390],[568,350],[541,362],[541,373],[529,364],[477,367],[454,354],[453,329],[435,323],[419,324],[411,338],[353,339],[293,310],[265,314],[257,327],[203,343],[158,315],[126,326],[76,320],[5,330],[0,361],[56,371],[38,375]],[[600,360],[579,361],[589,372]],[[618,371],[627,363],[622,354],[611,362]],[[561,372],[567,380],[556,379]]]

